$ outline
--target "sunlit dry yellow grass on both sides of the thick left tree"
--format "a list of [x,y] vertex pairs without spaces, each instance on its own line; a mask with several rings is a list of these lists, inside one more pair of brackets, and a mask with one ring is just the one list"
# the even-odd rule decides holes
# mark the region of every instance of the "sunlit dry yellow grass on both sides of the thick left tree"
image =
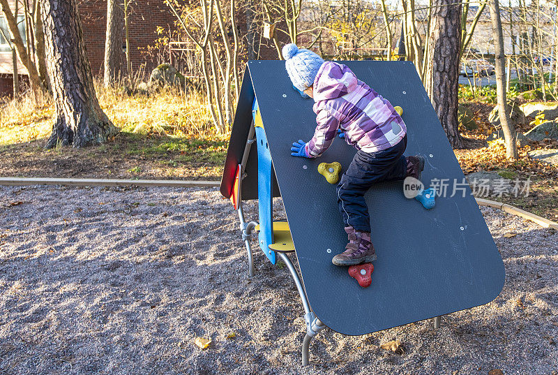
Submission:
[[[202,140],[229,138],[228,133],[216,131],[199,91],[165,88],[151,95],[128,95],[121,85],[107,89],[99,80],[95,87],[101,108],[122,132]],[[0,107],[0,120],[0,145],[47,138],[54,122],[52,97],[35,101],[31,94],[24,94],[6,101]]]

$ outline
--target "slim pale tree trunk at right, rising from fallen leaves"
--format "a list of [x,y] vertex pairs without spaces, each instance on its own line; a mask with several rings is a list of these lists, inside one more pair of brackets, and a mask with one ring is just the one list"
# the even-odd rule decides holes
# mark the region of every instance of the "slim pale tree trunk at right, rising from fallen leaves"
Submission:
[[502,35],[502,20],[500,20],[500,8],[498,0],[490,0],[490,18],[492,19],[492,38],[494,38],[494,54],[496,58],[496,96],[498,100],[498,115],[502,132],[506,141],[506,157],[516,159],[518,150],[515,145],[515,128],[510,121],[506,98],[506,86],[504,85],[504,36]]

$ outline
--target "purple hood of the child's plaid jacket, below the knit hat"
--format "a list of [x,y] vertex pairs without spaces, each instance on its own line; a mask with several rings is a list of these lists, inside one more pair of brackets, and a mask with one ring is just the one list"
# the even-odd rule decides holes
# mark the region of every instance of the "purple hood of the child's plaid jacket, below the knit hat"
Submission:
[[353,91],[357,84],[356,75],[347,66],[326,61],[314,80],[314,101],[340,98]]

